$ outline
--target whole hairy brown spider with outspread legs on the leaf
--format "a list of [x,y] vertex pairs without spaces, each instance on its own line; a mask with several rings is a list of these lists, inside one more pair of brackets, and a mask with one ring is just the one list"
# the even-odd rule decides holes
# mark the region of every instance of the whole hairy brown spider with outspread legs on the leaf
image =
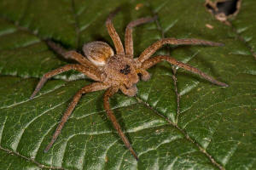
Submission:
[[38,94],[38,91],[43,87],[44,82],[50,77],[54,77],[64,71],[75,70],[82,72],[86,77],[90,77],[96,82],[91,83],[84,88],[81,88],[77,94],[73,96],[73,100],[67,108],[67,111],[61,118],[61,122],[55,130],[52,139],[48,146],[45,148],[44,152],[47,152],[49,148],[54,144],[55,139],[61,133],[61,129],[67,122],[68,116],[73,112],[74,107],[78,104],[79,99],[82,94],[87,94],[90,92],[95,92],[98,90],[107,89],[104,94],[104,108],[108,114],[110,121],[113,123],[113,127],[118,131],[120,138],[123,140],[125,146],[131,151],[131,154],[138,159],[136,152],[132,149],[129,140],[126,138],[125,133],[121,130],[119,122],[113,115],[113,111],[109,106],[109,98],[117,93],[119,89],[128,96],[135,96],[137,94],[137,82],[139,81],[139,76],[143,81],[147,81],[150,78],[148,68],[156,65],[160,61],[167,61],[172,65],[177,65],[187,71],[191,71],[201,77],[207,79],[209,82],[217,84],[219,86],[228,87],[224,82],[218,82],[212,77],[207,76],[207,74],[196,69],[191,65],[184,64],[170,56],[158,55],[154,58],[150,58],[156,50],[161,48],[164,44],[186,44],[186,45],[210,45],[210,46],[222,46],[223,44],[218,42],[208,42],[199,39],[175,39],[175,38],[164,38],[157,42],[154,42],[151,46],[146,48],[142,54],[136,59],[133,58],[133,40],[132,40],[132,28],[144,23],[148,23],[156,20],[156,18],[141,18],[138,20],[131,21],[125,30],[125,49],[119,38],[118,33],[115,31],[112,19],[114,13],[109,14],[106,21],[106,26],[108,33],[113,40],[113,44],[116,50],[114,54],[113,49],[106,42],[89,42],[84,44],[83,51],[85,56],[79,54],[75,51],[66,52],[64,48],[57,45],[55,42],[48,42],[49,46],[59,54],[62,54],[66,59],[74,59],[79,62],[79,64],[64,65],[61,68],[55,69],[54,71],[49,71],[44,74],[38,82],[37,88],[34,90],[30,99]]

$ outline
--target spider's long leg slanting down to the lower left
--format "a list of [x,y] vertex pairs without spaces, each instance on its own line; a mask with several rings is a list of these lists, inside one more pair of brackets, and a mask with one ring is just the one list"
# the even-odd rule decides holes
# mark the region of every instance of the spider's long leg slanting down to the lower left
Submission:
[[61,122],[59,123],[58,127],[55,130],[55,133],[52,136],[52,139],[50,140],[49,144],[47,147],[44,149],[44,152],[47,152],[49,148],[52,146],[52,144],[55,143],[55,140],[58,138],[59,134],[61,133],[61,129],[64,126],[65,122],[67,122],[68,117],[71,115],[73,112],[73,109],[75,106],[79,103],[79,99],[81,98],[82,94],[87,94],[90,92],[95,92],[98,90],[106,89],[109,86],[104,84],[103,82],[94,82],[91,83],[88,86],[85,86],[84,88],[81,88],[77,94],[73,96],[72,102],[69,104],[67,107],[67,111],[64,113],[64,115],[61,118]]

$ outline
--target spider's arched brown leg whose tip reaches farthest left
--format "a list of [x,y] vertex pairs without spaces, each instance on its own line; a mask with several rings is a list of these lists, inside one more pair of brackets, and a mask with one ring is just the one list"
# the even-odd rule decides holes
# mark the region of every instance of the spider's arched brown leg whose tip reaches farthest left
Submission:
[[33,99],[35,97],[35,95],[38,94],[38,91],[44,86],[44,83],[50,77],[54,77],[55,75],[58,75],[61,72],[70,71],[70,70],[80,71],[80,72],[84,73],[85,76],[90,77],[91,79],[93,79],[95,81],[102,82],[102,75],[101,75],[101,72],[99,72],[99,71],[85,67],[84,65],[64,65],[58,69],[55,69],[54,71],[49,71],[49,72],[45,73],[44,76],[41,78],[40,82],[38,82],[37,88],[34,90],[30,99]]

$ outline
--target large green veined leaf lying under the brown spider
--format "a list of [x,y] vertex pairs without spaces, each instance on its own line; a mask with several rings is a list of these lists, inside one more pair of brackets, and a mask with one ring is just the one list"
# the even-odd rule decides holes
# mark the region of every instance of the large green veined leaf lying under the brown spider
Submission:
[[[253,14],[253,3],[242,2],[241,13],[230,27],[215,20],[202,0],[3,0],[0,167],[255,169],[255,17],[247,19]],[[73,62],[56,55],[44,40],[50,38],[79,51],[84,43],[96,40],[113,46],[104,22],[117,7],[121,10],[113,23],[122,40],[131,20],[158,15],[157,22],[135,29],[136,56],[162,37],[223,42],[224,47],[166,46],[158,53],[170,54],[230,87],[218,87],[188,71],[160,63],[148,70],[148,82],[138,82],[137,97],[119,92],[111,99],[113,112],[139,161],[131,156],[108,120],[103,91],[83,96],[53,147],[44,153],[73,95],[93,82],[78,72],[67,72],[50,79],[30,100],[45,72]]]

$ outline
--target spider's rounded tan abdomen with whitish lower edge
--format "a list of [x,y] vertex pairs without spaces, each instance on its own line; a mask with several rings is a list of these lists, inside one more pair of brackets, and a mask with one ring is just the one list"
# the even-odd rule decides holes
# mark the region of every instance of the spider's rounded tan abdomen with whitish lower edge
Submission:
[[89,42],[84,44],[84,54],[95,65],[103,66],[109,57],[113,56],[113,49],[106,42]]

